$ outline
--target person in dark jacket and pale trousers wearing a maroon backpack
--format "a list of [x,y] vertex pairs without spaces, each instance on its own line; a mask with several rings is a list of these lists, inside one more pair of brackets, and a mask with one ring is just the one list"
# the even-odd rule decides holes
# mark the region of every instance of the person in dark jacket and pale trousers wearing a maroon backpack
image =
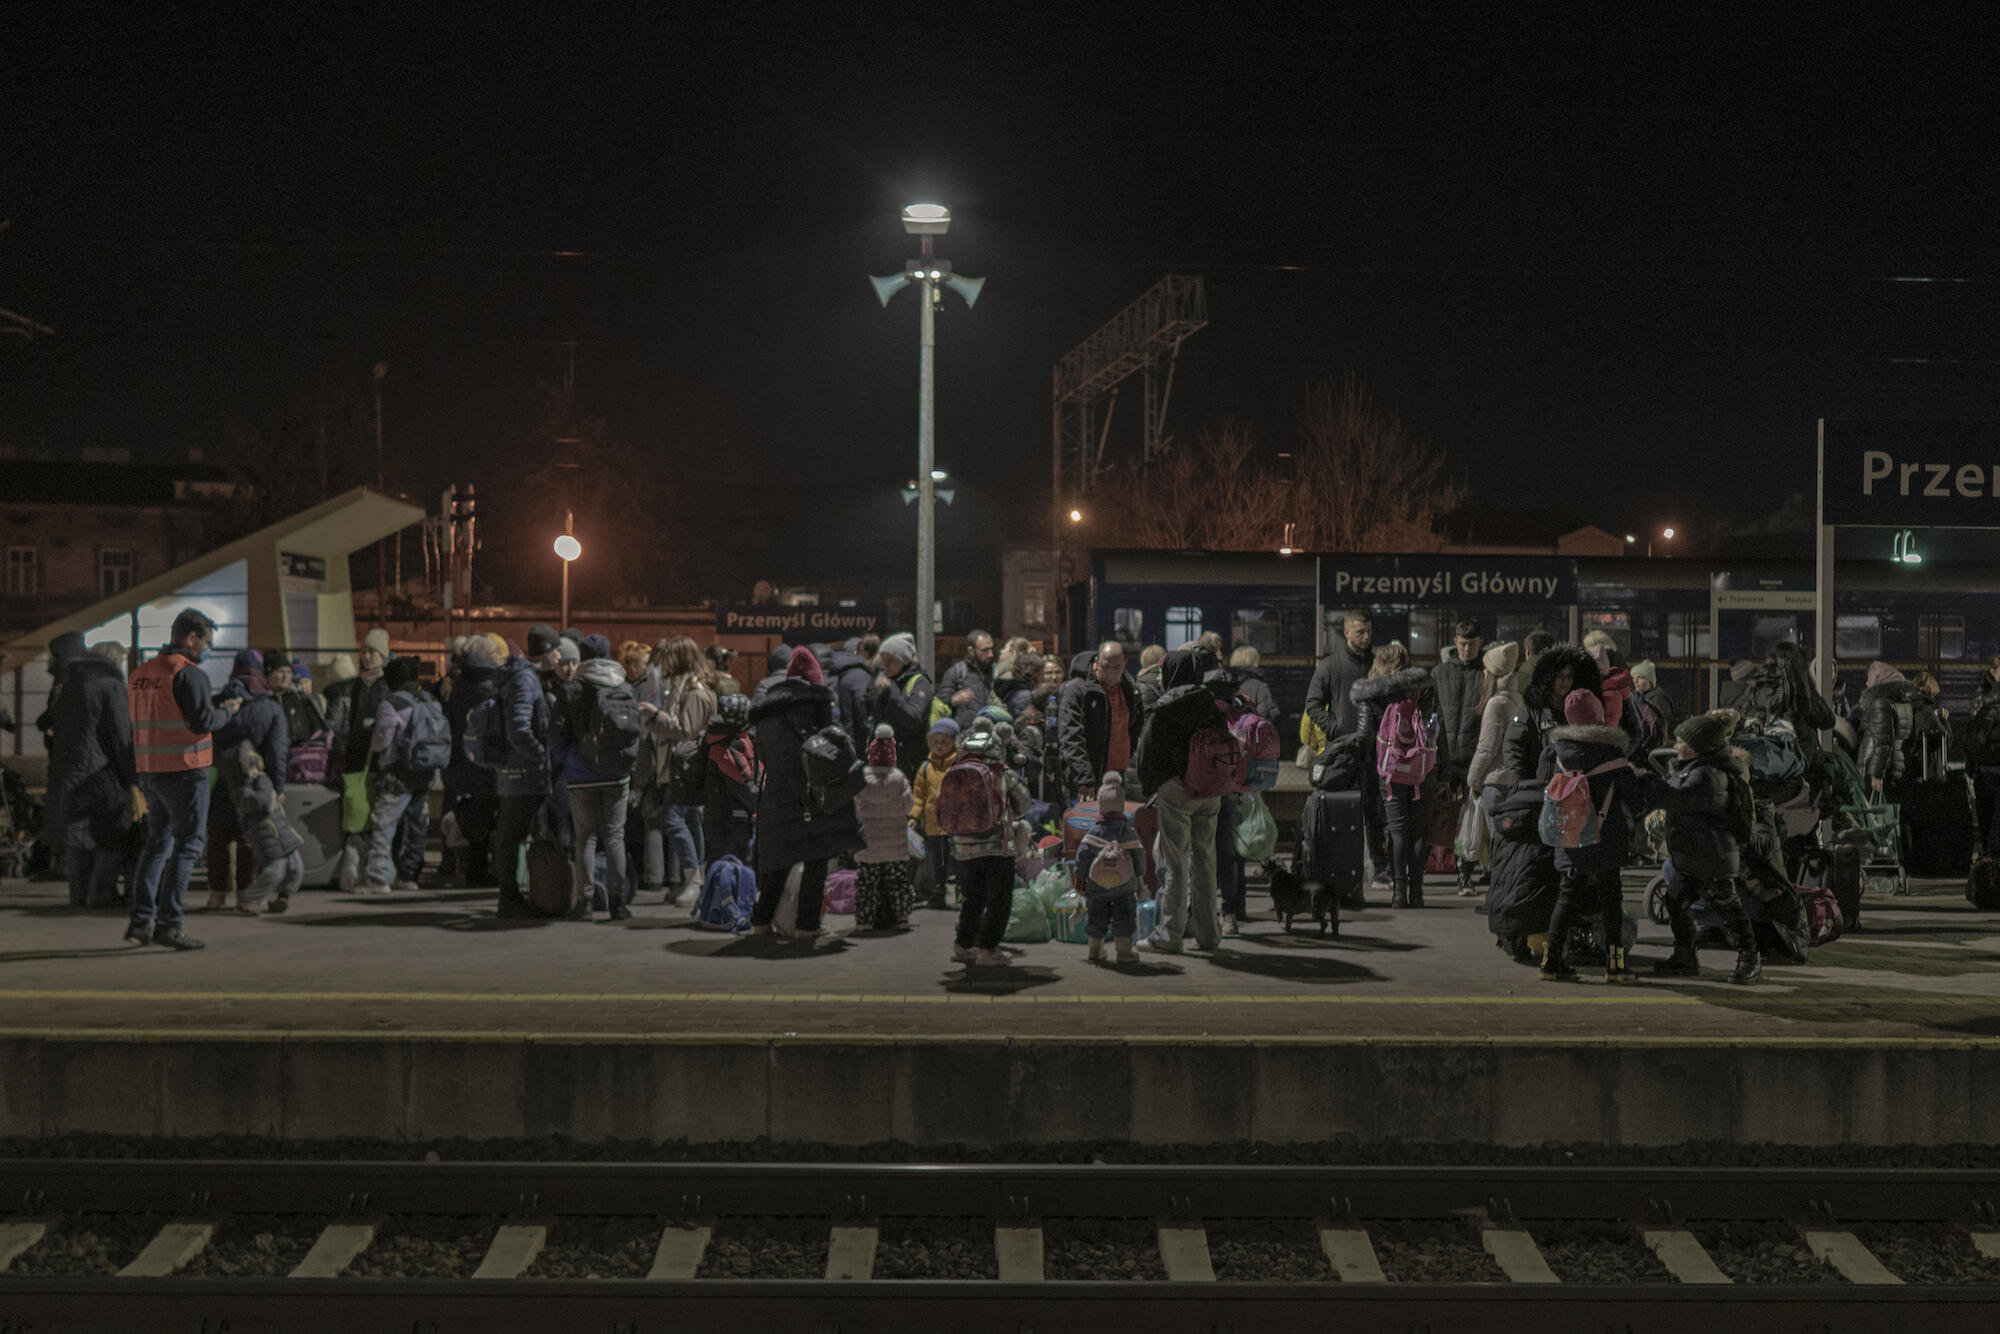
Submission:
[[[1138,738],[1138,778],[1154,794],[1160,814],[1160,870],[1164,876],[1160,914],[1148,950],[1180,954],[1188,926],[1194,944],[1214,950],[1222,944],[1222,890],[1216,882],[1216,820],[1220,796],[1188,796],[1182,776],[1196,732],[1226,728],[1222,706],[1206,684],[1220,666],[1198,644],[1176,648],[1160,660],[1160,702],[1146,710]],[[1234,694],[1234,682],[1226,684]]]

